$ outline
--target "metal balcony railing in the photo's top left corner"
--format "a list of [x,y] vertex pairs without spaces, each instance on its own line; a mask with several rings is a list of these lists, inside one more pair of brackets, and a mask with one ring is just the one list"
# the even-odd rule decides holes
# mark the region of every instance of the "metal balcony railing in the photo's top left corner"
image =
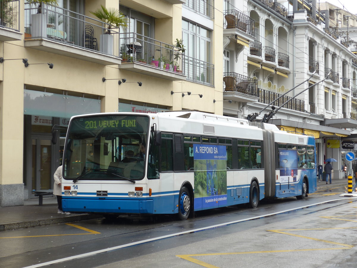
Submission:
[[0,27],[20,30],[20,1],[0,1]]

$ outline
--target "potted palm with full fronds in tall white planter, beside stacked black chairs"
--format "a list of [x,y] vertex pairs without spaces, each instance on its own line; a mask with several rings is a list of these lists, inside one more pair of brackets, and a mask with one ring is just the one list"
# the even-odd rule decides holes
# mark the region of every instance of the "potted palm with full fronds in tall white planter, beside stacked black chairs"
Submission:
[[128,23],[127,18],[118,9],[106,8],[103,5],[100,5],[99,9],[89,12],[106,24],[107,30],[100,35],[100,51],[112,55],[114,37],[110,34],[110,31],[111,29],[126,27]]

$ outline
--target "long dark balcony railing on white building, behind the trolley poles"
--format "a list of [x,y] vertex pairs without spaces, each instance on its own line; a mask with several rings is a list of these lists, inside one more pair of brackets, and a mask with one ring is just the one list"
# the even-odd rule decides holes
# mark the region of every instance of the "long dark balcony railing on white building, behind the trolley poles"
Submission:
[[[260,103],[269,104],[276,98],[280,97],[282,94],[266,90],[266,89],[258,89],[258,97]],[[287,102],[287,103],[286,103]],[[304,100],[299,100],[296,98],[291,98],[289,96],[282,96],[280,99],[276,100],[273,105],[280,107],[283,103],[286,103],[283,108],[295,110],[295,111],[305,111]]]

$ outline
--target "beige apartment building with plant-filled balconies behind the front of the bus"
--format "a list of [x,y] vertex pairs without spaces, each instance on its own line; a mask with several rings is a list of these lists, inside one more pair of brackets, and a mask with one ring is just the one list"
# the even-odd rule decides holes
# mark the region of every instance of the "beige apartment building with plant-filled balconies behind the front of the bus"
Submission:
[[[222,114],[223,1],[26,2],[0,7],[0,206],[53,188],[72,115]],[[112,28],[90,13],[101,5],[119,9],[128,26]],[[56,144],[54,127],[62,129]]]

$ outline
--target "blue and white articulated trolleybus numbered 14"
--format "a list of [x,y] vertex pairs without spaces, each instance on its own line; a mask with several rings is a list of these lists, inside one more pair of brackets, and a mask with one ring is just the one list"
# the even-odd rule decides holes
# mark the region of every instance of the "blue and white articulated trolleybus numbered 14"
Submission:
[[[315,139],[275,125],[196,111],[73,116],[62,208],[177,214],[316,190]],[[191,215],[191,216],[190,216]]]

